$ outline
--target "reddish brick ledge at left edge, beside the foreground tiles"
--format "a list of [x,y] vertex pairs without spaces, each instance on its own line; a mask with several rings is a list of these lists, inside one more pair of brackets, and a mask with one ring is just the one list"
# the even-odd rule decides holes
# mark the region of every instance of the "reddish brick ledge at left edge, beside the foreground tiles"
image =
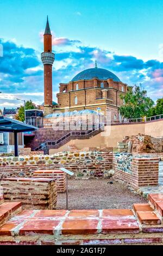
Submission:
[[0,205],[0,226],[9,220],[9,218],[17,215],[22,211],[20,202],[2,203]]

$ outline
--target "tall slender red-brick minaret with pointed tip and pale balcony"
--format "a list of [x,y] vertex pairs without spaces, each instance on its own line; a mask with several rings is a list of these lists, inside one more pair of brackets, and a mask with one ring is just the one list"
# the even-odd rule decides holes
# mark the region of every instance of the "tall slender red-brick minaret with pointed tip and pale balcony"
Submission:
[[52,52],[52,34],[48,17],[43,35],[43,45],[44,52],[41,53],[41,60],[44,66],[44,115],[47,115],[53,113],[52,65],[55,59],[55,54]]

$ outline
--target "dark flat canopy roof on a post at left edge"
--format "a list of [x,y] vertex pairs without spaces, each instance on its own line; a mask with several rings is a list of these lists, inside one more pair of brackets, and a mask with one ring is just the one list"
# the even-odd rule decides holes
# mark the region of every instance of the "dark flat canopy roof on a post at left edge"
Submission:
[[36,127],[24,124],[15,119],[0,117],[0,132],[28,132],[35,131]]

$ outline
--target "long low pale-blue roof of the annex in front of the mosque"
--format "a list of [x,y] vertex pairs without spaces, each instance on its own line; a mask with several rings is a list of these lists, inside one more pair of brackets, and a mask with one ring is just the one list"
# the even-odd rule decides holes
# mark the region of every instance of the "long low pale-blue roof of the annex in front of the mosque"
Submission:
[[95,110],[91,109],[83,109],[80,111],[71,111],[71,112],[63,112],[63,113],[53,113],[46,115],[45,118],[53,118],[53,117],[66,117],[69,115],[82,115],[82,114],[95,114],[95,115],[102,115],[102,113],[98,113]]

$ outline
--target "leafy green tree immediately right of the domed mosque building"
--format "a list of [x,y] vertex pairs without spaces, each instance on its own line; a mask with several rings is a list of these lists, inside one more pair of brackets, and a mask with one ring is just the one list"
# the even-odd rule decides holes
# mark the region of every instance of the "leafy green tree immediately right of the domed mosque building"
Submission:
[[120,95],[124,105],[120,107],[120,114],[123,118],[145,117],[154,105],[154,101],[147,97],[147,91],[140,86],[128,87],[125,95]]

